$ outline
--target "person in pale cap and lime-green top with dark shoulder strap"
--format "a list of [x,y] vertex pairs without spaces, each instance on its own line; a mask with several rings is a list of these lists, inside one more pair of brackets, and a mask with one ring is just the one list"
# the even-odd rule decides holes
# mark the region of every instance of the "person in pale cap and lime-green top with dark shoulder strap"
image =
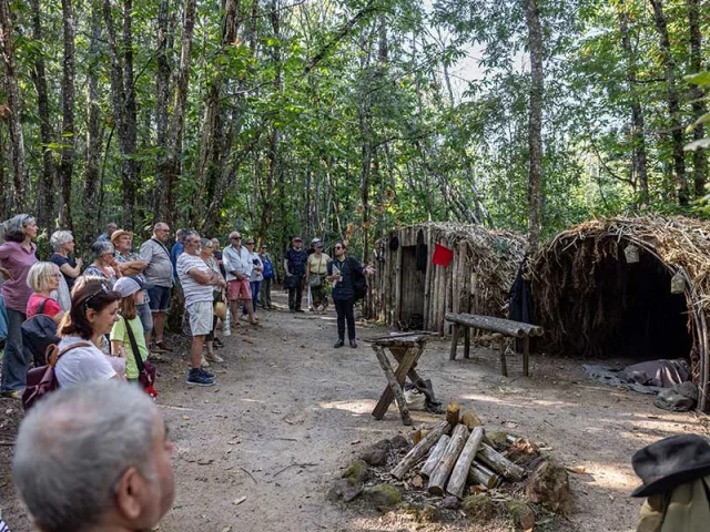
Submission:
[[125,359],[125,378],[136,382],[139,377],[138,356],[145,362],[148,360],[148,347],[143,325],[138,314],[138,305],[145,300],[143,284],[138,277],[121,277],[113,285],[113,291],[121,295],[119,300],[119,315],[111,329],[111,354],[114,357]]

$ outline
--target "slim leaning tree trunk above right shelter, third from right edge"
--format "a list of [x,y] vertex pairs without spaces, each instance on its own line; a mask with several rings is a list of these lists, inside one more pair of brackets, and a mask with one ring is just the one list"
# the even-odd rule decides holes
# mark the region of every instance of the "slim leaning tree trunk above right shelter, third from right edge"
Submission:
[[627,62],[627,81],[629,82],[629,98],[631,100],[631,181],[639,185],[639,206],[645,207],[649,202],[648,171],[646,165],[646,134],[643,109],[637,91],[638,65],[636,53],[631,45],[629,34],[629,13],[623,7],[618,8],[619,32],[621,33],[621,48]]

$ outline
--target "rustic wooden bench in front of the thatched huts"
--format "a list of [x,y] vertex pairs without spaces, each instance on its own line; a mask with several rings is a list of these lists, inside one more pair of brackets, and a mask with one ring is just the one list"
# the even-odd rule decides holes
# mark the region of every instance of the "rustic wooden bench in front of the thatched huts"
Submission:
[[494,316],[479,316],[476,314],[447,313],[446,320],[454,324],[452,335],[452,350],[449,360],[456,360],[458,337],[464,332],[464,358],[470,357],[470,329],[480,329],[494,332],[494,338],[500,341],[500,372],[508,376],[506,364],[505,338],[520,338],[523,340],[523,375],[528,376],[530,357],[530,337],[542,336],[542,327],[531,324],[523,324],[510,319],[496,318]]

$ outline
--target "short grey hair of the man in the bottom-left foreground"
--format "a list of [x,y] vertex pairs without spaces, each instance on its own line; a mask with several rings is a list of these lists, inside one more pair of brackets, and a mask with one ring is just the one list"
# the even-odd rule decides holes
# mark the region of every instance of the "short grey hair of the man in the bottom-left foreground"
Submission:
[[154,479],[155,418],[150,397],[120,381],[52,392],[30,410],[14,447],[12,479],[43,532],[81,532],[114,504],[129,468]]

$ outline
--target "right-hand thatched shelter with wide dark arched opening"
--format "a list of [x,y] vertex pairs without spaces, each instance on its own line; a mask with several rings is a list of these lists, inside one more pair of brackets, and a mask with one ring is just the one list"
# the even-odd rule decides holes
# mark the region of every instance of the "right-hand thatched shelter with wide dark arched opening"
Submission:
[[535,321],[560,356],[689,358],[708,401],[710,223],[646,216],[587,222],[530,262]]

